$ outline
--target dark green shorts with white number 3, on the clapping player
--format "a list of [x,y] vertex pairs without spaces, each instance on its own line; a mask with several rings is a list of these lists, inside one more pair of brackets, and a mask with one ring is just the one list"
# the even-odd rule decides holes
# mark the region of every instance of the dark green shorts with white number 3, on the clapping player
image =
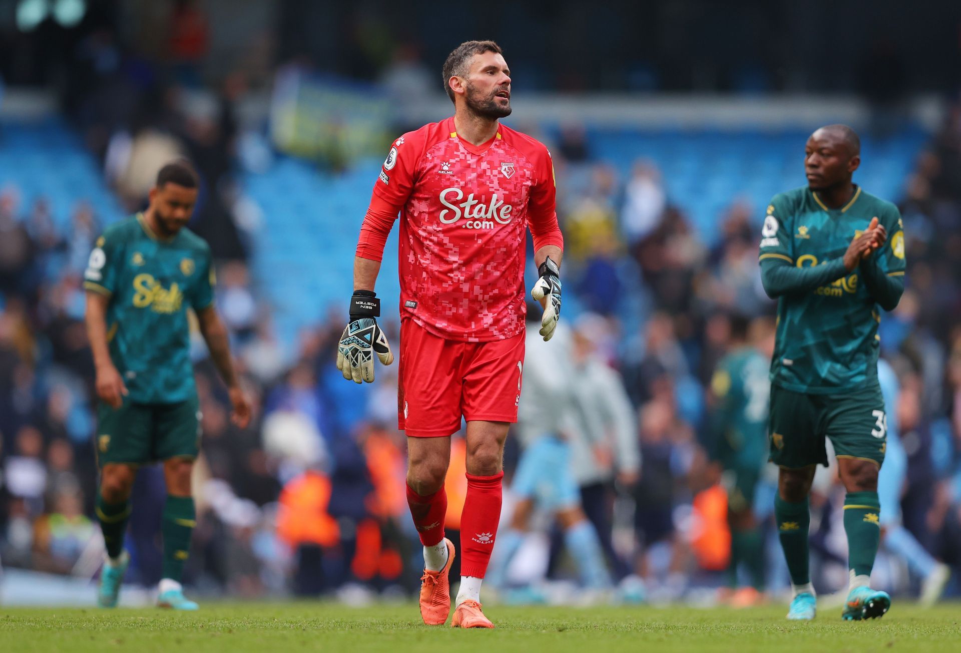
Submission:
[[884,462],[887,415],[878,385],[846,394],[803,394],[773,385],[768,426],[775,465],[826,466],[825,437],[838,458]]

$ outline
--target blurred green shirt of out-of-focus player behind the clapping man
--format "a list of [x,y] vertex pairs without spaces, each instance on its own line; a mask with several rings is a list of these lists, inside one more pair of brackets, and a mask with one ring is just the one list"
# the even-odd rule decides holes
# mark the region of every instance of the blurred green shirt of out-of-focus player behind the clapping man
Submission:
[[767,357],[743,346],[721,359],[711,378],[710,455],[727,468],[767,461],[769,367]]

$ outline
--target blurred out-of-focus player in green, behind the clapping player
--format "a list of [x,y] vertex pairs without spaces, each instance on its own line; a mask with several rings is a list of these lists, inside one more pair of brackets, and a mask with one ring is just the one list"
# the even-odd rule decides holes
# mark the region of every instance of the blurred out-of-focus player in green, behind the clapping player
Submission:
[[[707,454],[721,468],[727,490],[730,527],[730,582],[748,570],[752,588],[737,591],[733,605],[746,607],[762,600],[764,537],[754,518],[754,490],[768,458],[768,369],[774,349],[774,322],[765,317],[730,319],[731,343],[711,378]],[[714,476],[714,474],[711,474]]]

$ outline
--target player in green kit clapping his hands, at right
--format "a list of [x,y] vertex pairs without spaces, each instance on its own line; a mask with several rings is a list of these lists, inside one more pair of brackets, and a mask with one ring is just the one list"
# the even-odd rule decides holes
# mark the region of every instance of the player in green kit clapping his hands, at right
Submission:
[[904,232],[895,205],[851,182],[859,163],[860,139],[850,127],[816,131],[805,147],[808,186],[776,195],[762,230],[761,279],[778,300],[769,432],[771,461],[780,467],[775,518],[794,587],[790,619],[815,615],[807,497],[815,466],[827,464],[825,437],[848,490],[843,617],[874,618],[891,606],[885,592],[869,587],[887,432],[877,325],[904,289]]

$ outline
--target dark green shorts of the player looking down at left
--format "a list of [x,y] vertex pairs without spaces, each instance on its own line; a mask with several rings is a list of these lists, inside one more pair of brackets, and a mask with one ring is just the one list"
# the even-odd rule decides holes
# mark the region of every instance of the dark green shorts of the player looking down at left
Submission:
[[97,464],[147,465],[200,452],[200,408],[196,397],[175,404],[124,401],[118,409],[100,402],[94,442]]

